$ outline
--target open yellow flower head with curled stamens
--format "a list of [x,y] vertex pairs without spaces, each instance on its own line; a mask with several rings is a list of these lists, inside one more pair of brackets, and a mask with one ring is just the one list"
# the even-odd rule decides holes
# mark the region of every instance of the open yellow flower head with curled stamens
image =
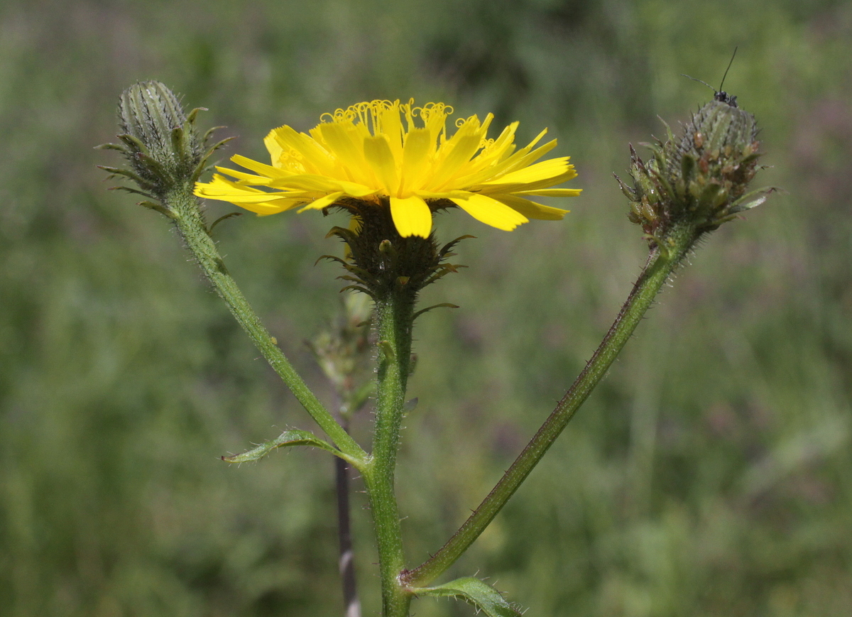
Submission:
[[493,115],[483,122],[470,116],[457,120],[455,135],[447,136],[450,113],[452,107],[443,103],[413,107],[413,100],[371,101],[324,114],[310,135],[285,125],[264,140],[271,165],[237,154],[231,160],[254,173],[219,167],[233,180],[216,174],[211,182],[199,182],[195,194],[230,201],[260,215],[298,206],[322,210],[344,199],[377,206],[389,203],[402,237],[429,236],[429,205],[446,207],[446,200],[507,231],[530,218],[565,216],[567,210],[528,199],[580,192],[549,188],[577,174],[568,157],[535,162],[556,146],[553,140],[533,149],[546,129],[515,150],[517,122],[497,139],[487,139]]

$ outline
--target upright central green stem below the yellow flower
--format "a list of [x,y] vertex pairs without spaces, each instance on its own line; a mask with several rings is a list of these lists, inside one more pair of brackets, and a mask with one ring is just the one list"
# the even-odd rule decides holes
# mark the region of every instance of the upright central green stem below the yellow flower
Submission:
[[412,601],[411,591],[400,581],[405,556],[394,469],[412,354],[413,314],[414,301],[406,290],[398,288],[385,297],[377,297],[376,424],[371,461],[361,473],[376,530],[383,617],[407,617]]

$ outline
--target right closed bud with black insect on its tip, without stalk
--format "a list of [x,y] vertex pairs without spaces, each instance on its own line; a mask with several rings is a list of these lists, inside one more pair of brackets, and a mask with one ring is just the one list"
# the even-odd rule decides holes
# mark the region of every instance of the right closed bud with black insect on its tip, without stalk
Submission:
[[666,125],[666,141],[643,144],[652,152],[647,162],[630,146],[632,187],[616,176],[630,199],[630,221],[642,225],[652,247],[678,225],[694,228],[698,239],[762,204],[772,190],[748,192],[760,156],[757,123],[736,96],[719,88],[683,125],[682,136],[675,138]]

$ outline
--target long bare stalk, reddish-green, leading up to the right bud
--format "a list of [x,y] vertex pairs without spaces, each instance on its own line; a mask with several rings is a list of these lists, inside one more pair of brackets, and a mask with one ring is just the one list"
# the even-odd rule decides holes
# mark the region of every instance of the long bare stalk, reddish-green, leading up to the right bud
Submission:
[[607,373],[613,360],[624,348],[630,335],[638,326],[642,316],[653,303],[660,287],[669,279],[674,269],[686,257],[690,248],[697,239],[695,228],[691,225],[683,225],[672,228],[669,234],[654,247],[648,255],[648,262],[642,269],[642,274],[636,280],[630,295],[627,297],[618,316],[610,327],[607,335],[603,337],[601,344],[594,355],[586,363],[583,371],[574,381],[571,388],[556,405],[556,409],[544,421],[541,428],[533,436],[533,439],[523,449],[515,462],[506,470],[504,476],[497,485],[483,499],[481,505],[474,510],[461,528],[452,535],[446,545],[440,551],[431,556],[417,568],[402,573],[400,580],[403,584],[412,587],[429,585],[440,574],[443,574],[459,556],[462,556],[474,540],[485,530],[490,522],[497,516],[509,498],[521,486],[529,473],[544,456],[544,453],[553,445],[556,438],[566,427],[568,422],[592,389]]

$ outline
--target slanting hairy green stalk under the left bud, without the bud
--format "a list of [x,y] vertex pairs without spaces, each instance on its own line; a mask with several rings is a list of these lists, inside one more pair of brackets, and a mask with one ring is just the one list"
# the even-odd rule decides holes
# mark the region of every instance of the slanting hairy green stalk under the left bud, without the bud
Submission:
[[343,426],[308,389],[290,361],[273,341],[273,337],[263,326],[257,314],[251,309],[231,274],[228,273],[219,251],[216,251],[216,244],[210,238],[204,224],[198,201],[193,196],[192,185],[187,183],[186,186],[170,191],[165,195],[164,201],[187,248],[192,251],[204,276],[210,280],[210,284],[225,301],[239,325],[243,327],[273,370],[290,388],[296,399],[302,403],[302,407],[334,441],[340,451],[347,455],[349,462],[356,468],[360,468],[367,458],[364,450],[343,430]]

